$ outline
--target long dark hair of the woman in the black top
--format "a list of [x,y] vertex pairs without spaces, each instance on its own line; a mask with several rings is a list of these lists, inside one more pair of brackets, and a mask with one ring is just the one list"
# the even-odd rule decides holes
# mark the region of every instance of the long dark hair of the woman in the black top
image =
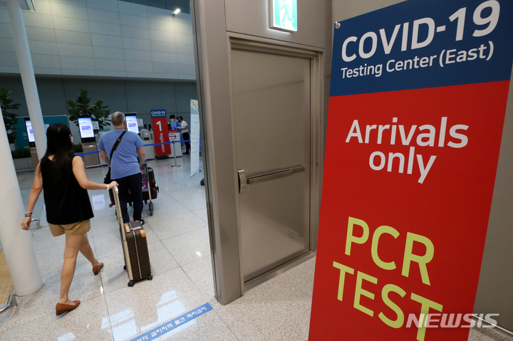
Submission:
[[[51,125],[46,130],[46,153],[41,159],[41,169],[46,162],[53,161],[56,169],[56,172],[53,172],[53,177],[57,184],[62,183],[63,175],[66,172],[73,172],[72,160],[75,154],[70,135],[71,130],[63,123]],[[53,155],[53,160],[48,159],[50,155]]]

